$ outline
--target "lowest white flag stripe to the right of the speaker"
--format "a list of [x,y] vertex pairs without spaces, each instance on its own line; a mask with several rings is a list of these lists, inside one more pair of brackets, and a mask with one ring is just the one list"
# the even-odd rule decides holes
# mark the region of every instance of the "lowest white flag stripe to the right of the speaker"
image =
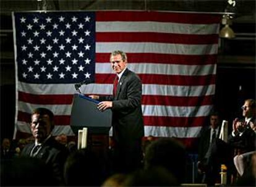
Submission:
[[202,127],[154,127],[145,126],[145,136],[196,138]]

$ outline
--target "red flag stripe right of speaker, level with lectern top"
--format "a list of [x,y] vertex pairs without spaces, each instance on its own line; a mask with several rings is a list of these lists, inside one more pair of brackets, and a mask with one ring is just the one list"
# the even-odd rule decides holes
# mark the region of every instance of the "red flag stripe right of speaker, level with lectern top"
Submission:
[[213,96],[179,97],[143,95],[142,104],[164,106],[205,106],[211,105]]

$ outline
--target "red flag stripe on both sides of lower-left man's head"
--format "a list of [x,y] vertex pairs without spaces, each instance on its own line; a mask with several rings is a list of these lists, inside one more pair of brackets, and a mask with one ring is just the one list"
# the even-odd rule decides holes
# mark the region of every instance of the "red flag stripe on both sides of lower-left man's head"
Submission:
[[[18,112],[18,121],[30,123],[31,114],[27,112]],[[54,116],[55,125],[70,125],[70,115],[55,115]]]

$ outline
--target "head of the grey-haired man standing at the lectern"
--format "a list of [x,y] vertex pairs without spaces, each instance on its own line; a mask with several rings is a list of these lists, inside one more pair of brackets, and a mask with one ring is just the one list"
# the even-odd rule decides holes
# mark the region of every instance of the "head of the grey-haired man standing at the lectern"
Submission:
[[113,51],[110,55],[111,67],[117,74],[121,73],[126,68],[127,56],[125,52]]

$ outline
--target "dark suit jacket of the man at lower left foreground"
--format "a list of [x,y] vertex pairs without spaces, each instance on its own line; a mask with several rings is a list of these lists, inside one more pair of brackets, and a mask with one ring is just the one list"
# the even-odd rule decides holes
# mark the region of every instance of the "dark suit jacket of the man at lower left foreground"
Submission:
[[[23,148],[21,156],[30,157],[30,152],[34,146],[35,143],[27,144]],[[63,183],[63,167],[67,158],[67,149],[62,144],[59,144],[53,137],[50,137],[41,145],[40,151],[34,157],[45,161],[46,165],[52,168],[53,177],[56,181]]]

